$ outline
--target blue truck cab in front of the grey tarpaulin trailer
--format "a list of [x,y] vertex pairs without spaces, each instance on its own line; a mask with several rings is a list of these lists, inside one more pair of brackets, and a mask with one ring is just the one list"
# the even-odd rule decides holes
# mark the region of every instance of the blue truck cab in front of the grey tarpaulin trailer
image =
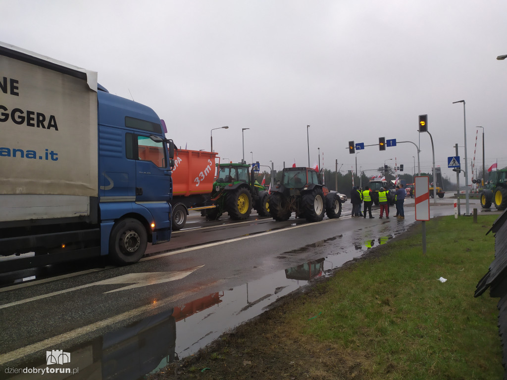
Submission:
[[97,100],[100,254],[135,262],[171,237],[173,145],[150,107],[101,86]]

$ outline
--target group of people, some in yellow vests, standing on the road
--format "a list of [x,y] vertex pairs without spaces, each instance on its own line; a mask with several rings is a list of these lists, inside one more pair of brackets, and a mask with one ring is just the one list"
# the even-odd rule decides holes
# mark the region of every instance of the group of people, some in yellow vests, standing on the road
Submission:
[[[372,215],[372,195],[369,186],[366,186],[365,189],[358,188],[356,186],[352,187],[352,191],[350,192],[350,202],[352,203],[352,217],[364,217],[366,218],[366,213],[368,212],[369,217],[373,218]],[[389,191],[385,187],[381,187],[379,191],[379,204],[380,204],[380,216],[382,219],[385,217],[389,219]],[[396,185],[396,192],[394,193],[395,204],[396,204],[396,217],[405,219],[405,210],[403,208],[403,204],[405,202],[405,197],[407,193],[403,185]],[[364,210],[361,212],[361,203],[364,203]]]

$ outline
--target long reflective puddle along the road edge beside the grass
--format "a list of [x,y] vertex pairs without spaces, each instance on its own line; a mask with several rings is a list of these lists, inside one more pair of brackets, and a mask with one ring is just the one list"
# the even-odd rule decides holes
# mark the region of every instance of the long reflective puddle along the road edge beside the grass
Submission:
[[[159,372],[174,360],[196,353],[225,331],[260,315],[278,298],[311,279],[330,275],[333,269],[387,243],[409,226],[403,223],[380,228],[375,239],[365,231],[356,230],[352,245],[345,246],[349,236],[343,239],[343,235],[337,235],[282,252],[272,259],[294,262],[298,255],[312,259],[106,332],[79,346],[64,348],[70,353],[72,363],[61,367],[74,368],[79,363],[79,374],[66,377],[69,379],[86,374],[101,379],[141,379]],[[37,362],[30,363],[31,366],[44,368],[46,364]]]

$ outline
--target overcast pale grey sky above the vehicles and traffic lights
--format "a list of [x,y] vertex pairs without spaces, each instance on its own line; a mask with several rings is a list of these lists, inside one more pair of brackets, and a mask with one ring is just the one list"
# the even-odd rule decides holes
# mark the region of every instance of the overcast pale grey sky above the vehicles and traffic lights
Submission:
[[[507,166],[507,1],[1,0],[0,40],[98,72],[111,93],[152,107],[178,146],[281,170],[354,167],[348,141],[419,144],[428,115],[443,173],[468,162],[483,126],[486,169]],[[476,165],[482,167],[482,130]],[[420,136],[421,170],[431,142]],[[357,166],[404,164],[417,149],[369,146]],[[323,162],[323,163],[322,163]],[[343,166],[342,166],[343,164]],[[267,168],[262,168],[267,169]],[[372,172],[367,172],[367,174]],[[463,178],[463,177],[462,177]],[[470,175],[469,175],[470,179]],[[461,182],[463,183],[463,182]]]

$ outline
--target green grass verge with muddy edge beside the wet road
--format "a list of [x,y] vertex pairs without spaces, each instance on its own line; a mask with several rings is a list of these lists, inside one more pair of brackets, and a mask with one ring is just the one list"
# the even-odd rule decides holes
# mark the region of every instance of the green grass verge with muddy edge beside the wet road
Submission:
[[430,220],[426,255],[417,223],[150,378],[502,378],[498,299],[474,298],[496,217]]

